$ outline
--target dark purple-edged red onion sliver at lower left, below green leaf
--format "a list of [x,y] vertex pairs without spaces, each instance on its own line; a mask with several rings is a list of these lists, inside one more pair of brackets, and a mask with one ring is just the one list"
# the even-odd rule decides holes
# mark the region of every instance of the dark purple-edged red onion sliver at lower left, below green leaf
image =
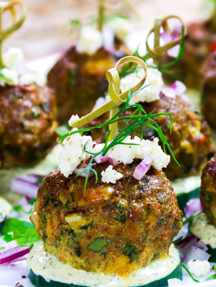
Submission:
[[[18,258],[22,258],[29,253],[29,246],[18,246],[11,248],[0,254],[0,264],[14,262]],[[22,259],[23,260],[23,259]],[[19,260],[16,260],[19,261]]]

